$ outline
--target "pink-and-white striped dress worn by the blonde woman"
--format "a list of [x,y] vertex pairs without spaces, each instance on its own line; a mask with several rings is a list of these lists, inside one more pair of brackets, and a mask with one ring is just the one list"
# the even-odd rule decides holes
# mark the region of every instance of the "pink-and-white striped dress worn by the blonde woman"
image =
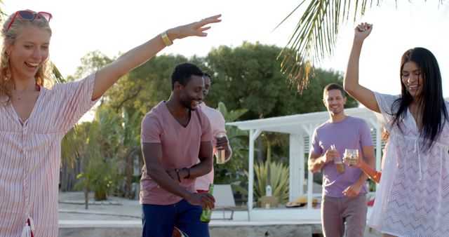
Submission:
[[[20,236],[30,218],[34,236],[58,236],[62,137],[90,109],[95,74],[41,88],[27,121],[0,105],[0,236]],[[5,98],[3,99],[5,100]]]

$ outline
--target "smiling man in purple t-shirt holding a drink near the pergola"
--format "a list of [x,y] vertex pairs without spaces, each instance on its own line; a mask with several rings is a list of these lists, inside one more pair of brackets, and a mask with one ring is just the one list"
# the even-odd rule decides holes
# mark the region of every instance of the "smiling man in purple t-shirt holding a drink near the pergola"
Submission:
[[[324,236],[363,236],[366,226],[367,176],[359,168],[342,164],[338,172],[335,158],[342,158],[345,149],[358,149],[372,168],[375,164],[373,140],[366,121],[344,114],[346,95],[342,86],[331,83],[323,90],[323,102],[330,119],[315,129],[309,153],[309,170],[323,170],[321,224]],[[335,149],[330,147],[335,145]]]

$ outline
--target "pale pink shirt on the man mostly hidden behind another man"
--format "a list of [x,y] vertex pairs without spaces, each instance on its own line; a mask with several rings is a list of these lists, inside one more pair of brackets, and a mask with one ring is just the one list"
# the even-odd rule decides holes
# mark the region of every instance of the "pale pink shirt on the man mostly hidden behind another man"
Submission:
[[[213,134],[213,154],[217,154],[217,140],[215,137],[218,137],[220,133],[226,135],[225,128],[225,118],[223,118],[222,113],[217,109],[213,109],[208,107],[206,104],[199,104],[201,110],[203,110],[204,114],[208,116],[210,121],[210,126],[212,127]],[[201,177],[196,178],[195,189],[196,190],[208,190],[209,184],[213,184],[213,167],[212,170],[207,174]]]

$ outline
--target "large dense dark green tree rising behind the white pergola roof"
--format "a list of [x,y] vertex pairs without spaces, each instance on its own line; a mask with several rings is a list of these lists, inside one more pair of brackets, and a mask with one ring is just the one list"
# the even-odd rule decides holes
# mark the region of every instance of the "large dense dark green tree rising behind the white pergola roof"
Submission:
[[[301,95],[290,88],[286,75],[279,72],[274,60],[281,48],[244,42],[241,46],[214,48],[206,57],[213,86],[206,98],[212,107],[225,102],[229,109],[248,109],[241,119],[268,118],[323,111],[323,88],[328,83],[342,83],[340,72],[317,69],[309,90]],[[355,107],[349,98],[347,107]]]

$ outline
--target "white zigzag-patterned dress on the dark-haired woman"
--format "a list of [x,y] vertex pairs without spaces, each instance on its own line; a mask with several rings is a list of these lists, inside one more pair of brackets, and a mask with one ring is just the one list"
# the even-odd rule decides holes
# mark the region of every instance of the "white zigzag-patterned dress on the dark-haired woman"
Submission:
[[368,225],[393,236],[449,236],[448,121],[431,149],[424,150],[410,111],[401,118],[402,130],[391,126],[391,104],[398,96],[375,97],[390,138]]

